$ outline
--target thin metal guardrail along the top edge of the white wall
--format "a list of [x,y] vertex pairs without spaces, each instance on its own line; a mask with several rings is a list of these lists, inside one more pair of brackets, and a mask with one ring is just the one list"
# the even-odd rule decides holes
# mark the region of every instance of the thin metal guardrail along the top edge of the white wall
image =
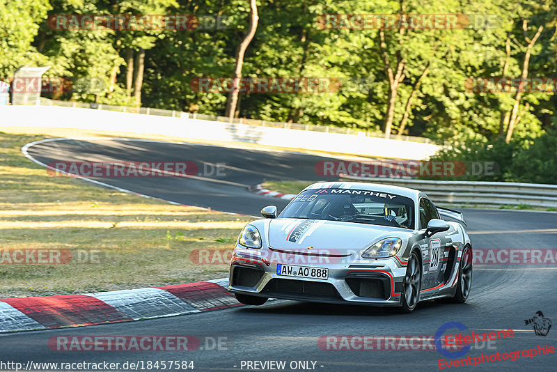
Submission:
[[[220,121],[221,123],[230,123],[230,118],[228,118],[227,116],[205,115],[205,114],[198,114],[196,112],[191,113],[191,112],[183,112],[183,111],[176,111],[176,110],[152,109],[150,107],[128,107],[128,106],[114,106],[112,104],[49,100],[48,98],[42,98],[42,97],[40,98],[40,104],[41,106],[79,107],[81,109],[100,109],[100,110],[109,110],[109,111],[118,111],[118,112],[130,112],[132,114],[170,116],[172,118],[191,118],[191,119],[199,119],[199,120]],[[361,129],[351,129],[348,127],[334,127],[332,125],[282,123],[278,121],[265,121],[265,120],[247,119],[247,118],[233,118],[233,121],[231,123],[256,125],[260,127],[276,127],[276,128],[285,128],[285,129],[295,129],[295,130],[308,130],[313,132],[352,134],[356,136],[384,138],[384,135],[382,133],[375,133],[375,132],[365,131]],[[427,139],[425,137],[414,137],[414,136],[399,137],[396,134],[391,134],[391,137],[389,138],[398,139],[402,141],[419,142],[421,144],[433,143],[432,141],[430,141],[430,139]]]

